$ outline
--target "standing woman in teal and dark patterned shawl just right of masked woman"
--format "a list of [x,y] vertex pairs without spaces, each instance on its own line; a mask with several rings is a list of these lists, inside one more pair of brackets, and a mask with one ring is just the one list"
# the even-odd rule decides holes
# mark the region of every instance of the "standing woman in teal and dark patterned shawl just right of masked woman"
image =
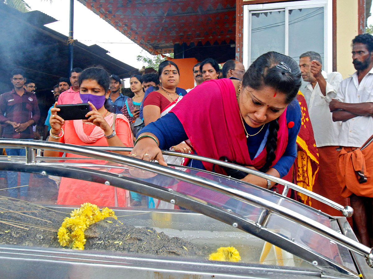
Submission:
[[136,118],[139,117],[140,105],[142,99],[144,99],[145,94],[142,86],[142,77],[140,75],[131,76],[131,78],[129,79],[129,85],[131,86],[131,91],[135,94],[135,96],[126,100],[125,105],[121,109],[121,112],[129,120],[132,133],[136,137],[136,131],[133,124]]

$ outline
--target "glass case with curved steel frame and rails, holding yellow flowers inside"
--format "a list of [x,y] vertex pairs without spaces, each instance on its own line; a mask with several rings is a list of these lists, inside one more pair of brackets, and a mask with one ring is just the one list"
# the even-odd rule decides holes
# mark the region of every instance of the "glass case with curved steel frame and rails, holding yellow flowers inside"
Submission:
[[[0,157],[1,174],[13,171],[20,181],[0,184],[0,278],[373,278],[372,250],[345,217],[286,194],[293,188],[346,217],[352,209],[284,180],[172,151],[164,154],[244,170],[285,189],[111,152],[131,148],[13,139],[0,146],[26,148],[24,157]],[[45,149],[79,157],[38,155]]]

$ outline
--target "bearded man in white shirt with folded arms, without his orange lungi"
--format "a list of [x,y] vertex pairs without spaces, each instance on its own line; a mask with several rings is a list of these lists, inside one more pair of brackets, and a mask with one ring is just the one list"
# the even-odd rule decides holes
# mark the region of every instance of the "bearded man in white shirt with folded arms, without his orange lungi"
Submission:
[[[329,104],[333,121],[342,121],[338,142],[342,147],[361,147],[373,134],[373,36],[357,35],[352,40],[352,63],[357,70],[344,79],[339,86],[336,99]],[[365,158],[372,164],[372,158]],[[343,185],[342,185],[343,186]],[[373,198],[350,196],[354,218],[361,243],[370,247],[369,230],[372,225]]]

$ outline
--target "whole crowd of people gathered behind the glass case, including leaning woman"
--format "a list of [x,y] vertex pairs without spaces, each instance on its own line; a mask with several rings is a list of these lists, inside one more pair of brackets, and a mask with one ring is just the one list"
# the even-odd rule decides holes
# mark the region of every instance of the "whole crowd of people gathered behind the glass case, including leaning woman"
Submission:
[[[357,71],[344,80],[338,72],[323,71],[322,58],[314,51],[301,54],[299,65],[286,55],[267,52],[247,71],[239,61],[226,61],[220,69],[215,60],[207,58],[191,69],[195,87],[186,90],[178,87],[181,74],[178,65],[166,60],[160,63],[157,74],[131,76],[133,97],[122,94],[122,80],[115,74],[109,76],[103,68],[73,68],[70,78],[60,78],[53,88],[56,103],[49,109],[42,140],[75,145],[134,146],[130,154],[117,153],[157,160],[161,165],[170,163],[170,158],[163,156],[161,150],[171,149],[284,177],[298,155],[299,131],[302,126],[311,125],[319,156],[314,183],[326,198],[343,205],[351,204],[355,210],[355,230],[361,242],[370,247],[373,187],[366,169],[369,170],[372,163],[371,158],[364,160],[357,150],[373,134],[372,53],[373,36],[356,36],[352,40],[352,63]],[[20,69],[12,71],[11,82],[13,90],[0,96],[2,136],[32,139],[32,127],[40,119],[35,83],[26,79]],[[299,94],[303,94],[307,103],[310,123],[302,118],[304,111],[297,99]],[[56,105],[78,103],[89,104],[87,119],[65,121],[59,116]],[[24,152],[24,149],[6,150],[8,155],[25,155]],[[359,180],[363,188],[360,192],[355,189],[356,185],[346,182],[346,177],[354,176],[354,168],[345,168],[348,159],[341,158],[342,153],[354,153],[352,156],[357,157],[354,168],[365,177]],[[62,154],[45,151],[44,155],[59,157]],[[66,157],[76,156],[66,154]],[[363,167],[359,168],[362,162]],[[275,186],[268,179],[244,172],[232,173],[206,162],[182,159],[176,164],[228,174],[267,189]],[[16,173],[7,172],[9,188],[17,184],[16,179]],[[27,185],[28,179],[29,174],[21,174],[21,185]],[[131,192],[128,198],[125,190],[114,189],[98,183],[82,187],[81,181],[64,177],[57,203],[142,204],[141,195]],[[17,189],[9,189],[8,194],[17,197]],[[26,198],[27,187],[21,187],[19,194],[21,199]],[[151,206],[157,205],[159,203],[153,201]]]

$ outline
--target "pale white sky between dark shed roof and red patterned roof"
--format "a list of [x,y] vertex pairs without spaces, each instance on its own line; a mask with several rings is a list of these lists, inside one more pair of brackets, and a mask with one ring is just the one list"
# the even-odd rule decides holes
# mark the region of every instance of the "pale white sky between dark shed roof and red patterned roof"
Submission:
[[[68,0],[25,0],[31,10],[39,10],[57,19],[45,25],[63,35],[69,35]],[[74,39],[86,45],[99,45],[109,51],[109,55],[135,68],[142,68],[142,62],[136,60],[137,55],[151,57],[147,51],[132,42],[113,26],[74,0]]]

